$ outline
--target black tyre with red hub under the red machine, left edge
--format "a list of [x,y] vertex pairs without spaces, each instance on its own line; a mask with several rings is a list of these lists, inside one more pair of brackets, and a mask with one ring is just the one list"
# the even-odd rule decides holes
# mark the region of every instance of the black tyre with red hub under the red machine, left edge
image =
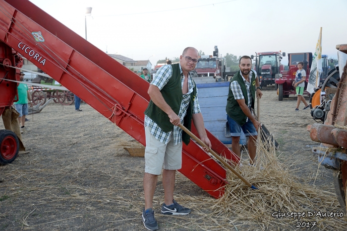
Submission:
[[0,130],[0,164],[12,162],[18,155],[19,141],[10,130]]

